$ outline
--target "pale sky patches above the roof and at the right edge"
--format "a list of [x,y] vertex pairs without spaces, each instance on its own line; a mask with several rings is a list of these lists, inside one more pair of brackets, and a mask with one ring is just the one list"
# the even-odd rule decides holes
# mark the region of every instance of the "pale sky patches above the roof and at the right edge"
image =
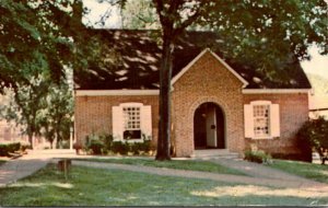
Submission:
[[[110,18],[106,21],[104,27],[107,28],[120,27],[119,11],[110,7],[109,3],[104,2],[103,4],[99,4],[97,0],[83,0],[83,3],[85,7],[87,7],[91,10],[89,15],[83,19],[84,23],[90,22],[91,24],[94,24],[101,19],[101,16],[104,13],[109,12]],[[108,8],[112,8],[112,10],[108,10]],[[101,25],[98,25],[97,27]],[[309,54],[312,56],[312,59],[309,61],[305,60],[301,62],[301,66],[304,69],[304,71],[306,73],[319,74],[328,79],[328,55],[326,56],[319,55],[317,47],[312,47],[309,49]]]

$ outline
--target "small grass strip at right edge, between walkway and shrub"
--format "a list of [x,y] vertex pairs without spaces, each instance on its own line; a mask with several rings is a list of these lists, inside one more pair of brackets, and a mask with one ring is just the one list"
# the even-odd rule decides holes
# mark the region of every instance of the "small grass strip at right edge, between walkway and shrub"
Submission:
[[317,182],[328,184],[328,165],[314,164],[307,162],[274,160],[271,167],[285,171],[288,173],[303,176]]

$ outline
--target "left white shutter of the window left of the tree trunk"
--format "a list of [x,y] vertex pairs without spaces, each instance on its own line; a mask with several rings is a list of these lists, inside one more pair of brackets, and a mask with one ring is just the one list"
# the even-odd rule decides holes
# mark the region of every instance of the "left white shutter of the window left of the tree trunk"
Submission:
[[121,106],[112,107],[112,124],[113,124],[113,137],[115,140],[122,140],[124,134],[124,114]]

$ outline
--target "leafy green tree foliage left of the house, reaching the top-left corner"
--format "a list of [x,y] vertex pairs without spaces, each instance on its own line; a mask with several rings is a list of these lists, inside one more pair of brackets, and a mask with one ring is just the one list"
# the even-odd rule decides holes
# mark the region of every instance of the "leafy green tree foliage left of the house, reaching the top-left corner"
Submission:
[[[94,42],[85,36],[82,1],[2,0],[0,13],[0,93],[4,93],[3,89],[13,92],[11,104],[2,111],[4,117],[25,125],[30,142],[39,134],[42,124],[50,140],[52,135],[67,136],[71,111],[62,116],[58,105],[66,104],[55,97],[70,93],[59,86],[66,79],[65,68],[86,68],[97,55]],[[56,105],[47,103],[49,96]],[[55,127],[45,123],[45,111],[55,117]]]

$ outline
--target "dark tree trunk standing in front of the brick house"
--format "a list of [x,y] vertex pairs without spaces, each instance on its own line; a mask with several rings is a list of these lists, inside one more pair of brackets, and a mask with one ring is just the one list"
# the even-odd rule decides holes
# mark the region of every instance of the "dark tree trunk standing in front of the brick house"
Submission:
[[160,72],[160,123],[156,160],[171,160],[171,76],[172,76],[172,41],[165,35]]

